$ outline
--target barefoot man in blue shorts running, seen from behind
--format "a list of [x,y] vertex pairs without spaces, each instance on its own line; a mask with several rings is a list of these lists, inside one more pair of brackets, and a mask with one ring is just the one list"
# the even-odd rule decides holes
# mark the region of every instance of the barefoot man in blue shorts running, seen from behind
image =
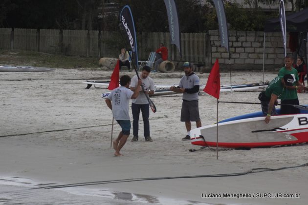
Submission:
[[132,92],[129,89],[131,77],[128,75],[121,76],[120,87],[111,91],[106,99],[106,104],[112,110],[113,118],[122,128],[118,138],[113,141],[113,149],[115,150],[114,156],[122,156],[120,153],[121,148],[127,141],[131,131],[131,121],[129,116],[129,102],[130,99],[136,99],[139,95],[139,87],[141,80],[137,81],[138,88]]

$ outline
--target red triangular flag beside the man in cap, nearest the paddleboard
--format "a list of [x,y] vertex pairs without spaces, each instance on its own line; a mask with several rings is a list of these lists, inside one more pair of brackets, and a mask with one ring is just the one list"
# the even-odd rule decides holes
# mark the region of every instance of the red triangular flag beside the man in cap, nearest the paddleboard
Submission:
[[218,59],[216,59],[216,62],[214,66],[212,67],[211,73],[209,75],[209,78],[207,79],[207,82],[206,82],[206,85],[203,91],[213,96],[214,98],[219,99],[220,73],[219,73]]

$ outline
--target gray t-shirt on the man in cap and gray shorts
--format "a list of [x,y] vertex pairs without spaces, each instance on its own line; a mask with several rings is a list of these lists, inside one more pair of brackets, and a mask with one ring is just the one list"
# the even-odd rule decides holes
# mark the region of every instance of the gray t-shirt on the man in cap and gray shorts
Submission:
[[[181,88],[193,88],[195,85],[200,85],[200,79],[199,77],[195,74],[192,73],[189,76],[183,76],[180,83],[178,84],[179,87]],[[183,93],[183,100],[185,101],[198,101],[198,92],[197,93]]]

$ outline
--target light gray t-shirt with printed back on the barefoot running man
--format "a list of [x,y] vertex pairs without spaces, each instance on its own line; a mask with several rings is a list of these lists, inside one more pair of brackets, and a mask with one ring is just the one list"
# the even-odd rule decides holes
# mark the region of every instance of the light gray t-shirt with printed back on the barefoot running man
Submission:
[[112,115],[115,120],[130,120],[129,103],[132,98],[132,90],[120,86],[111,91],[108,99],[112,104]]

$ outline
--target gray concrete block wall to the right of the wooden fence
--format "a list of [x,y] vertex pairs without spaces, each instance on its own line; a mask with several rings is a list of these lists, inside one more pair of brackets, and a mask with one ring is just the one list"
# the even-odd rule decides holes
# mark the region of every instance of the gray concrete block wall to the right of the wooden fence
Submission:
[[[263,31],[229,31],[229,55],[225,47],[220,47],[219,30],[210,30],[211,62],[219,59],[221,64],[235,64],[235,67],[260,67],[263,65]],[[288,33],[287,43],[288,45]],[[291,54],[287,48],[287,54]],[[265,34],[264,65],[279,67],[284,63],[284,47],[281,32]]]

